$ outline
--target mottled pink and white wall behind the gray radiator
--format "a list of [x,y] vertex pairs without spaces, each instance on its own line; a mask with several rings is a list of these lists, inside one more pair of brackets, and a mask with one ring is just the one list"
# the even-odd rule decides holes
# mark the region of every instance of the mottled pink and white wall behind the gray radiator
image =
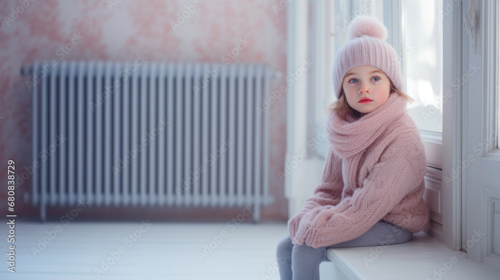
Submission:
[[[32,0],[31,0],[32,1]],[[199,1],[191,13],[187,6],[194,0],[22,0],[0,1],[0,188],[1,211],[6,212],[7,160],[15,160],[16,174],[32,165],[31,94],[21,76],[21,65],[34,60],[121,60],[132,61],[143,54],[148,61],[187,61],[225,63],[223,55],[246,38],[247,46],[231,62],[267,63],[283,73],[271,82],[271,90],[285,84],[286,14],[275,10],[279,0]],[[27,3],[29,5],[27,5]],[[191,10],[194,6],[191,6]],[[17,12],[12,12],[17,10]],[[188,15],[174,25],[177,13]],[[67,46],[66,49],[64,47]],[[62,49],[61,49],[62,47]],[[70,49],[70,50],[69,50]],[[226,59],[226,60],[223,60]],[[283,94],[284,96],[284,94]],[[287,204],[283,182],[285,152],[285,98],[270,107],[269,185],[275,204],[262,209],[262,219],[286,220]],[[27,174],[27,173],[26,173]],[[38,209],[22,201],[30,192],[30,178],[16,188],[15,213],[36,216]],[[73,205],[74,207],[74,205]],[[71,208],[71,207],[70,207]],[[60,216],[67,207],[49,211]],[[86,209],[89,218],[107,213],[115,218],[226,219],[241,209],[197,211],[134,208]]]

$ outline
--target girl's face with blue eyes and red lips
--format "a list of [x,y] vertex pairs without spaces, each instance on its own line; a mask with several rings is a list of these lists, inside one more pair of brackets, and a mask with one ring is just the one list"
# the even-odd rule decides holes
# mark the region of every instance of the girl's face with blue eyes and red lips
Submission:
[[[390,80],[382,70],[371,65],[350,68],[342,80],[347,103],[356,111],[369,113],[389,98]],[[360,103],[361,98],[372,101]]]

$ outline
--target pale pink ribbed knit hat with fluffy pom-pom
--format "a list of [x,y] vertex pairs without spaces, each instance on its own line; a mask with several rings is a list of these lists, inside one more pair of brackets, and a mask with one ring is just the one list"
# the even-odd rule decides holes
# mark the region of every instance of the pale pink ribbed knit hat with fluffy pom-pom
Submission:
[[337,99],[345,73],[357,65],[371,65],[382,70],[394,87],[402,90],[403,83],[399,59],[389,45],[387,28],[376,17],[361,15],[354,18],[347,28],[347,41],[338,51],[333,63],[333,89]]

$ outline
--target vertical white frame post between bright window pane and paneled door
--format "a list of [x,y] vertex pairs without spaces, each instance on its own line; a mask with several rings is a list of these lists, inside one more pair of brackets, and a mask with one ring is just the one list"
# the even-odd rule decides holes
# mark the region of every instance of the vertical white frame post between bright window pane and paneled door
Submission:
[[[443,7],[443,119],[442,119],[442,242],[458,250],[461,243],[461,177],[456,175],[461,161],[461,88],[453,81],[461,77],[462,2],[444,0]],[[452,178],[451,181],[444,178]]]

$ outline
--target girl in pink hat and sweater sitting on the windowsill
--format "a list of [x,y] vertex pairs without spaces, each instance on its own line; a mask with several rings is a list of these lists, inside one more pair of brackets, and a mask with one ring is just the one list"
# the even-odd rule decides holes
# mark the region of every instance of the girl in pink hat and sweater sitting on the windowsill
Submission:
[[429,228],[425,151],[387,29],[361,16],[347,35],[333,66],[323,173],[277,246],[281,279],[319,279],[327,248],[397,244]]

